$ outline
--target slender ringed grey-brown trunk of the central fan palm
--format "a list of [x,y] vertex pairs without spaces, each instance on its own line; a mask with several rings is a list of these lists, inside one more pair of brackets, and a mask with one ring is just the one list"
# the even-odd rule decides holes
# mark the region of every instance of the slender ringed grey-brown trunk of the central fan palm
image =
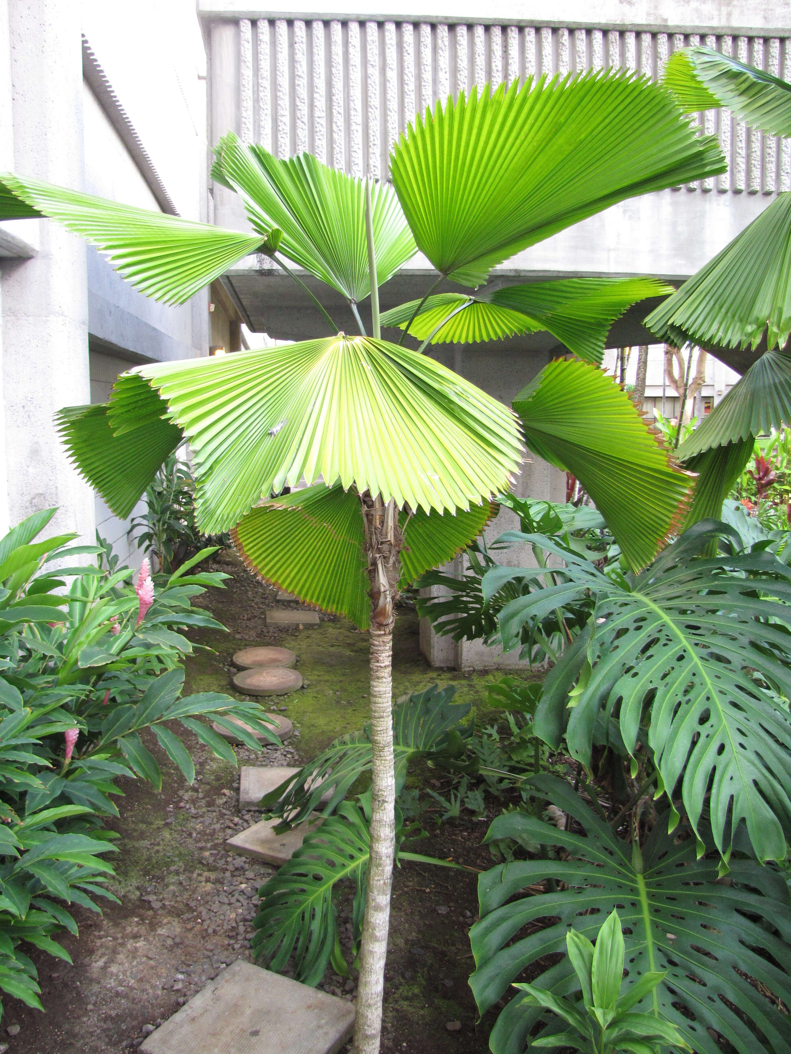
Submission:
[[392,749],[392,627],[400,577],[401,532],[392,499],[362,496],[371,588],[371,831],[365,921],[360,946],[353,1054],[378,1054],[382,1033],[390,889],[396,854]]

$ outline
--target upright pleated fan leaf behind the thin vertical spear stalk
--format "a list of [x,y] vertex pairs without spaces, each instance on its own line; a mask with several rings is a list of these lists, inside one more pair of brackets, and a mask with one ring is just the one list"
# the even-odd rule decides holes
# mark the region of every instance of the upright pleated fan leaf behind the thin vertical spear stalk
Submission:
[[[370,293],[365,236],[365,182],[322,164],[312,154],[279,160],[263,147],[245,147],[233,133],[220,139],[212,170],[245,202],[256,231],[283,232],[284,256],[359,302]],[[392,188],[371,191],[373,242],[380,284],[414,255],[416,246]]]

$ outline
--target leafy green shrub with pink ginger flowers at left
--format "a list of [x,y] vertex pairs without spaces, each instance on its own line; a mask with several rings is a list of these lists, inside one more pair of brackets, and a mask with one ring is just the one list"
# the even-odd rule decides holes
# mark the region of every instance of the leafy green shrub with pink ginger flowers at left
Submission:
[[277,742],[255,704],[217,692],[180,698],[178,663],[193,646],[179,630],[223,629],[190,607],[207,586],[221,587],[225,575],[188,573],[213,550],[156,585],[144,569],[133,588],[130,568],[74,562],[101,559],[99,546],[70,545],[73,535],[36,541],[54,512],[0,540],[0,989],[38,1009],[25,943],[71,961],[54,939],[77,932],[67,905],[98,911],[97,897],[114,899],[103,857],[116,850],[102,818],[118,815],[116,781],[161,786],[141,734],[153,731],[189,782],[194,764],[174,724],[233,763],[201,719],[228,727],[238,718]]

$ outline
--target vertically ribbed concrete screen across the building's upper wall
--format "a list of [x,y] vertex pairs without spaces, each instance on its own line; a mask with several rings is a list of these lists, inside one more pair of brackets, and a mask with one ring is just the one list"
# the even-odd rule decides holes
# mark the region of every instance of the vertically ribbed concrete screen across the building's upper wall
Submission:
[[[237,55],[237,98],[221,109],[235,111],[243,139],[279,157],[307,150],[354,175],[385,178],[388,153],[417,112],[487,81],[495,87],[605,66],[656,80],[673,52],[698,43],[791,81],[789,37],[246,18],[212,28]],[[687,191],[791,190],[791,140],[752,132],[727,111],[707,113],[701,123],[718,135],[729,171]],[[213,128],[213,137],[227,130]]]

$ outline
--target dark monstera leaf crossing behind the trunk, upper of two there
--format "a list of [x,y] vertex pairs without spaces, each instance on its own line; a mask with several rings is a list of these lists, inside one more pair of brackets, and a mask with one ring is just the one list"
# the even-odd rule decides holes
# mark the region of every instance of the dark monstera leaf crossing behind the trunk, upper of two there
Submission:
[[[471,727],[459,730],[469,714],[468,703],[451,703],[456,688],[439,690],[432,684],[424,691],[399,700],[392,713],[397,793],[404,785],[407,767],[416,758],[429,761],[454,759],[464,752],[463,739]],[[262,808],[283,819],[277,831],[302,823],[316,809],[325,792],[332,789],[322,811],[329,816],[346,797],[349,787],[371,767],[369,727],[335,740],[298,773],[262,799]]]

